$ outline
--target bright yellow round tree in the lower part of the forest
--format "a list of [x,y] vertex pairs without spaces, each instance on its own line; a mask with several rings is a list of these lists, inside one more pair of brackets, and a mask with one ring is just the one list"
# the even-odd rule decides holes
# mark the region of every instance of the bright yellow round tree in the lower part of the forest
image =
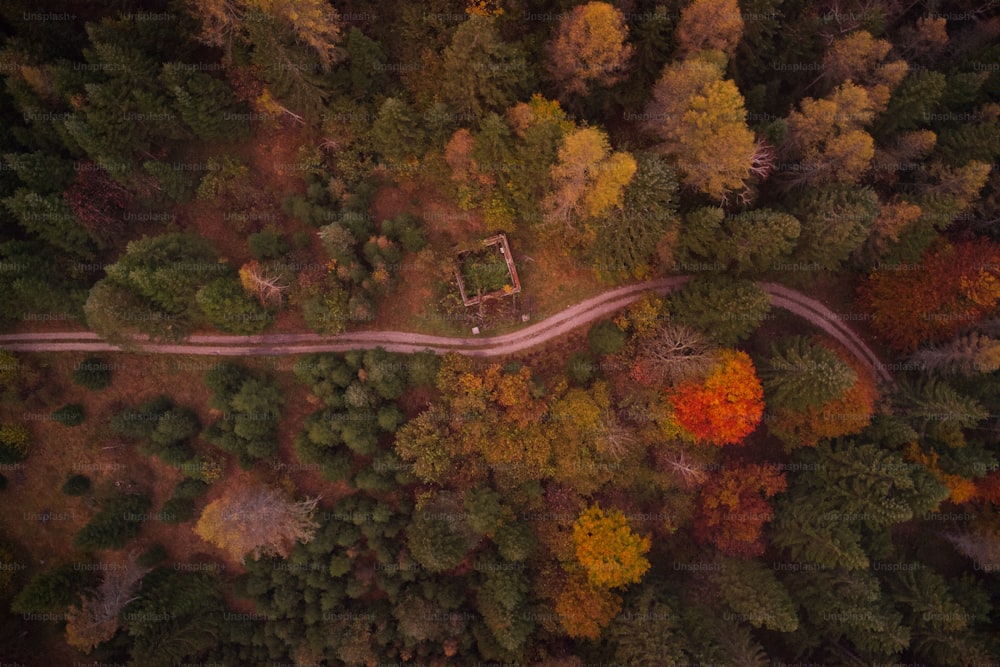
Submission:
[[576,559],[594,586],[633,584],[649,569],[645,557],[649,538],[633,532],[620,510],[605,512],[599,505],[584,510],[573,524],[573,544]]

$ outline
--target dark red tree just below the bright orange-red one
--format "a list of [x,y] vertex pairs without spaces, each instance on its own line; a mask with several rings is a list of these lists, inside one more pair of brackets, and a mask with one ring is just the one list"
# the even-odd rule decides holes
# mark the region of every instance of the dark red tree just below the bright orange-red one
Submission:
[[729,556],[764,553],[761,530],[771,520],[768,498],[787,488],[785,474],[766,465],[725,468],[701,489],[695,537]]

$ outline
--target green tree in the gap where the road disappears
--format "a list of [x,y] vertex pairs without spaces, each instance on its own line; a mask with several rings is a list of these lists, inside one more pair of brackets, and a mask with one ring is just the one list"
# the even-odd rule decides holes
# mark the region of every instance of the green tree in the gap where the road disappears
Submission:
[[672,317],[707,334],[723,347],[749,338],[768,318],[767,293],[748,281],[698,276],[669,299]]

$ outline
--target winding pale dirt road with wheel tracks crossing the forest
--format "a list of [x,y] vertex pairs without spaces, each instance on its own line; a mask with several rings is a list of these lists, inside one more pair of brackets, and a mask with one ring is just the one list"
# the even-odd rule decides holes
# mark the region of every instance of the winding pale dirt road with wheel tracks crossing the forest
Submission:
[[[308,352],[346,352],[382,347],[389,352],[412,353],[430,350],[437,353],[459,352],[473,357],[494,357],[523,352],[570,331],[615,313],[636,301],[643,293],[667,294],[690,280],[690,276],[671,276],[644,283],[626,285],[585,299],[555,315],[513,333],[501,336],[459,338],[430,336],[405,331],[352,331],[337,336],[319,334],[264,334],[260,336],[191,336],[183,343],[142,342],[138,351],[159,354],[196,354],[218,356],[268,356]],[[885,364],[863,340],[819,301],[777,283],[756,283],[771,298],[771,304],[798,315],[840,342],[875,376],[892,383]],[[25,352],[111,352],[121,348],[102,340],[97,334],[25,333],[0,336],[0,346]]]

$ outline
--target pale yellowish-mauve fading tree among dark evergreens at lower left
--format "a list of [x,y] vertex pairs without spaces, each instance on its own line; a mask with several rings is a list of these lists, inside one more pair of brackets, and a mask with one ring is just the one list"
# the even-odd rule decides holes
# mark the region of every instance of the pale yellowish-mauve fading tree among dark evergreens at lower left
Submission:
[[237,488],[209,503],[194,532],[233,559],[287,556],[296,542],[312,539],[318,524],[313,511],[319,498],[289,500],[264,486]]

